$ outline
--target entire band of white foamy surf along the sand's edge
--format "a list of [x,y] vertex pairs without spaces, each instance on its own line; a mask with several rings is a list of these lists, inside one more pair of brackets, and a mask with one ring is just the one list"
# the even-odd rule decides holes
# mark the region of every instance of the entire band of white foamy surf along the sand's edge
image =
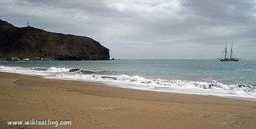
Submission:
[[[222,84],[220,82],[203,82],[188,80],[145,79],[138,75],[99,75],[100,70],[84,70],[82,68],[22,68],[0,66],[1,72],[40,75],[50,79],[81,80],[100,82],[111,86],[163,91],[173,93],[189,93],[199,95],[228,96],[256,101],[256,86],[244,84]],[[85,74],[86,73],[86,74]]]

